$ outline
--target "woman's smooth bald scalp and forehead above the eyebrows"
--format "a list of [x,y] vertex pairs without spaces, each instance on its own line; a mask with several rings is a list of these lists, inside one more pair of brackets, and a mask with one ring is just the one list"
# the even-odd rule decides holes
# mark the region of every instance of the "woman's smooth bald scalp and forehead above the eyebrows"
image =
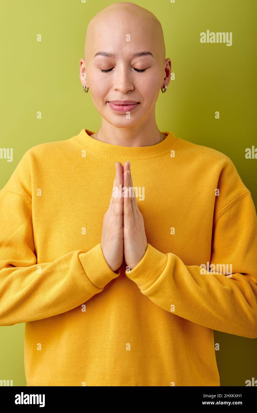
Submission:
[[128,46],[130,52],[149,50],[157,62],[165,61],[163,29],[154,14],[131,2],[112,4],[97,13],[87,26],[85,64],[100,50],[124,57]]

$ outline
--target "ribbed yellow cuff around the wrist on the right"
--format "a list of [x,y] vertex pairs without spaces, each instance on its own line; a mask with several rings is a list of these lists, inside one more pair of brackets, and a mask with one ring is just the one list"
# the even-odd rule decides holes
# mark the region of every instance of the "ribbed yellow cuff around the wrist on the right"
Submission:
[[141,261],[129,272],[125,271],[130,280],[134,281],[140,290],[151,287],[165,270],[168,257],[151,244],[147,244],[146,252]]

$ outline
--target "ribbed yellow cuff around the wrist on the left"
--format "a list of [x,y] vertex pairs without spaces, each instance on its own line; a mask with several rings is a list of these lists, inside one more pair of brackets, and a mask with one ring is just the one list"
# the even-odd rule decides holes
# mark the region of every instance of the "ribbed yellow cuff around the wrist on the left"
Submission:
[[115,273],[108,266],[101,244],[97,244],[90,251],[81,252],[78,254],[78,258],[87,278],[97,288],[103,289],[108,282],[120,275],[120,268],[117,270],[118,273]]

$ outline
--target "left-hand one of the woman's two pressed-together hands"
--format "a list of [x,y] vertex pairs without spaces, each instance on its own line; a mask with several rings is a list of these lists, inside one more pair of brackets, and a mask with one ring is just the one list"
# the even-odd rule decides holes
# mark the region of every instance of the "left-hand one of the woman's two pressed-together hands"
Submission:
[[[123,188],[123,165],[116,162],[116,176],[113,187],[118,188],[121,193]],[[113,196],[112,192],[109,207],[104,214],[101,249],[108,266],[116,271],[123,263],[123,197]],[[116,190],[117,195],[117,190]]]

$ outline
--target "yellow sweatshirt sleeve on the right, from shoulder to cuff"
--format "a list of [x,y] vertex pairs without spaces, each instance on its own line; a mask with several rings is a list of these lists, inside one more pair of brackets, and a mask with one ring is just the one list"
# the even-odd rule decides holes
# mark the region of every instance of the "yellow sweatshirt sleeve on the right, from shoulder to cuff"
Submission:
[[[217,271],[220,264],[231,264],[231,274]],[[235,199],[214,222],[210,271],[185,265],[172,252],[163,254],[147,244],[127,277],[153,303],[172,311],[171,317],[257,338],[257,216],[250,192]]]

